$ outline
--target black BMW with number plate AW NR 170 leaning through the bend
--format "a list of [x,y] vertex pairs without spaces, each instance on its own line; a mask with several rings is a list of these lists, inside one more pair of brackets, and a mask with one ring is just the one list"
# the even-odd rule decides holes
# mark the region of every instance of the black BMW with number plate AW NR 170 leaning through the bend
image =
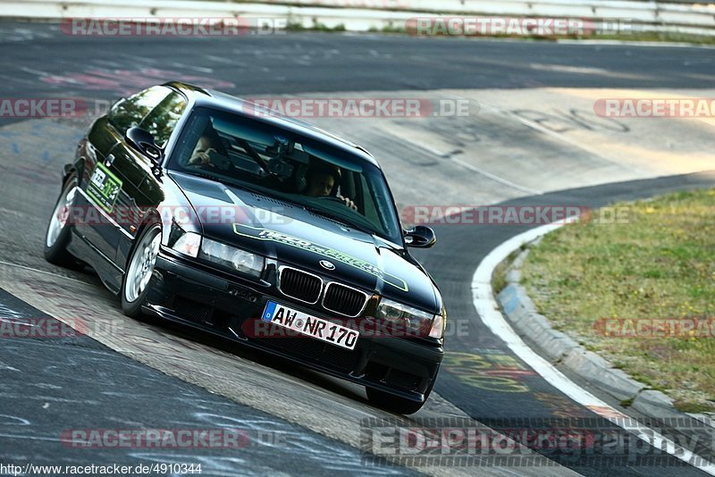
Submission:
[[183,83],[89,128],[45,256],[93,267],[125,314],[257,347],[415,413],[443,355],[442,297],[408,247],[380,166],[302,121]]

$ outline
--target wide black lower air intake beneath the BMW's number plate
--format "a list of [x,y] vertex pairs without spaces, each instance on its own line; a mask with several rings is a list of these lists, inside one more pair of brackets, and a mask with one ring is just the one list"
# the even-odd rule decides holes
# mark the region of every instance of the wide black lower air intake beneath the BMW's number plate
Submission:
[[266,347],[273,347],[290,356],[315,361],[325,367],[341,372],[352,372],[357,366],[357,359],[360,357],[357,349],[350,351],[307,336],[266,338],[263,339],[262,344]]

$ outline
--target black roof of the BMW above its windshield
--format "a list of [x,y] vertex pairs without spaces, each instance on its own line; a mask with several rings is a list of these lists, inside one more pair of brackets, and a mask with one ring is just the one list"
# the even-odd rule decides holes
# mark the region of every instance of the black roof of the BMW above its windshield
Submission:
[[[190,101],[194,103],[194,106],[205,106],[211,107],[220,111],[225,111],[227,113],[240,114],[242,116],[247,116],[254,118],[256,121],[263,121],[269,124],[273,124],[276,127],[280,127],[291,132],[307,136],[315,140],[322,141],[329,144],[330,146],[338,147],[346,152],[349,152],[355,158],[361,158],[364,161],[373,164],[374,166],[380,168],[380,164],[377,163],[373,155],[371,155],[362,146],[357,146],[357,144],[350,142],[347,139],[340,138],[334,134],[322,130],[315,125],[307,122],[300,121],[290,116],[285,116],[275,111],[267,110],[263,106],[256,105],[251,101],[241,99],[240,97],[231,96],[229,94],[223,93],[221,91],[216,91],[214,89],[200,88],[198,86],[190,85],[188,83],[183,83],[180,81],[171,81],[164,83],[165,87],[173,88],[180,91],[183,95],[187,96]],[[260,115],[250,113],[251,111],[259,110]]]

